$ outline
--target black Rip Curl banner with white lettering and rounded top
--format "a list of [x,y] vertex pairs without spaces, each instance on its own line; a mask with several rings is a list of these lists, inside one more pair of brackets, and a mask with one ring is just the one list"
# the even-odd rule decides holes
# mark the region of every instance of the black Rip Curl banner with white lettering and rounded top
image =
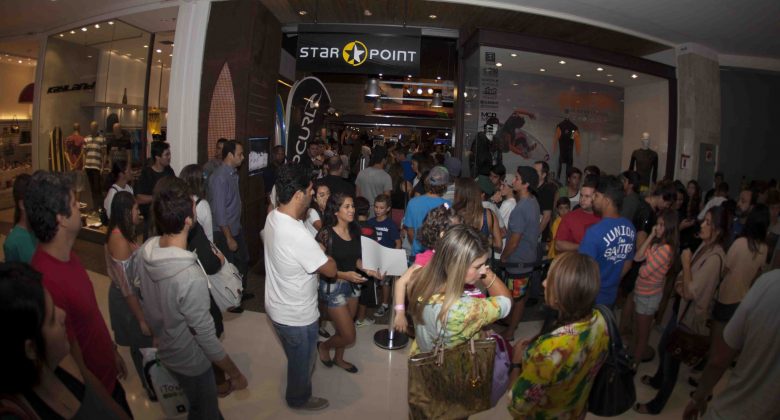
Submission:
[[293,85],[287,97],[287,159],[300,162],[306,145],[325,122],[330,107],[330,94],[316,77],[305,77]]

